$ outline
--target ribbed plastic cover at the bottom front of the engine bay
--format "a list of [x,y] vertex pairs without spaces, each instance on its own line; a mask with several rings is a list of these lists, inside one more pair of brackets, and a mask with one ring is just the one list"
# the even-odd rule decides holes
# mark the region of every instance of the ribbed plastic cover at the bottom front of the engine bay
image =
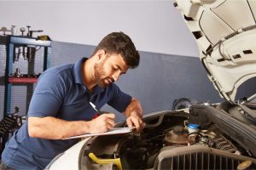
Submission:
[[256,159],[235,155],[224,150],[216,150],[204,145],[191,145],[184,147],[166,147],[160,151],[155,169],[237,169],[242,161],[253,161]]

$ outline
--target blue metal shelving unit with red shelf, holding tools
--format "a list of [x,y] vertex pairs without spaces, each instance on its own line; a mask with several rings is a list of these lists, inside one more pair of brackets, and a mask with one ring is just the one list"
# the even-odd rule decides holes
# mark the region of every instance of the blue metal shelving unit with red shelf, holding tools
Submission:
[[[41,71],[45,71],[49,68],[49,54],[51,47],[51,40],[48,36],[41,37],[32,37],[32,32],[27,36],[5,36],[3,37],[2,44],[6,46],[6,62],[5,62],[5,71],[3,77],[4,83],[4,105],[3,105],[3,120],[0,122],[0,152],[4,148],[5,143],[9,137],[15,132],[15,129],[19,128],[22,125],[22,120],[25,117],[20,116],[17,113],[19,112],[19,107],[15,106],[15,112],[11,112],[11,98],[14,98],[12,93],[17,93],[12,86],[21,86],[19,88],[25,88],[26,92],[16,95],[17,98],[24,97],[26,99],[26,112],[28,110],[28,105],[32,98],[32,92],[34,89],[34,83],[38,82],[38,77],[40,74],[36,75],[35,72],[38,68]],[[23,34],[22,34],[23,35]],[[22,49],[22,53],[20,50]],[[26,49],[26,50],[25,50]],[[38,51],[40,49],[40,51]],[[17,54],[17,51],[19,52]],[[38,54],[38,55],[36,55]],[[23,56],[23,59],[17,58],[17,56]],[[26,58],[29,57],[29,58]],[[37,67],[35,67],[35,58],[39,57],[39,62],[37,62]],[[32,57],[32,58],[31,58]],[[25,62],[27,60],[27,63]],[[42,62],[43,61],[43,62]],[[42,63],[42,64],[41,64]],[[22,68],[27,69],[27,74],[20,74],[16,69],[13,70],[15,65],[20,65]],[[24,69],[23,69],[24,71]],[[19,74],[16,74],[19,72]],[[24,96],[25,95],[25,96]],[[13,96],[13,97],[12,97]],[[24,100],[25,101],[25,100]],[[26,115],[25,112],[25,115]],[[23,115],[23,114],[22,114]]]

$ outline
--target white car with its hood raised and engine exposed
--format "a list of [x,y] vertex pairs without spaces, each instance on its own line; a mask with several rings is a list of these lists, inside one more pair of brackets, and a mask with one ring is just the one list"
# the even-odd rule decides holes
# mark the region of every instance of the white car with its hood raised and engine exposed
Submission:
[[142,133],[83,139],[46,169],[256,169],[255,95],[236,101],[237,88],[256,77],[256,1],[176,0],[174,6],[226,102],[147,114]]

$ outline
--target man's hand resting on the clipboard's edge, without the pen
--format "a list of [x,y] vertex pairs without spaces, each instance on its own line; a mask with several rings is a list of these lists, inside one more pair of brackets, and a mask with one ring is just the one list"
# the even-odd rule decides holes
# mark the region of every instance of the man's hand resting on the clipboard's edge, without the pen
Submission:
[[132,111],[131,115],[126,119],[128,127],[136,127],[136,133],[143,130],[145,123],[142,120],[142,116],[137,111]]

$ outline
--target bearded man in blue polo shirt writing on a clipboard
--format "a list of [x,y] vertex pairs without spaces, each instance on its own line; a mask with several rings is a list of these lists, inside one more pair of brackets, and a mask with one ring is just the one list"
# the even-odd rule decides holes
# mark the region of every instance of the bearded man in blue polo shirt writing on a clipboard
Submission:
[[89,102],[96,108],[108,104],[124,112],[127,125],[140,132],[144,123],[139,101],[113,83],[129,68],[137,67],[139,59],[131,38],[113,32],[102,39],[89,59],[44,71],[32,96],[27,121],[6,144],[0,167],[44,169],[56,155],[79,141],[62,138],[107,132],[114,126],[114,114],[93,119],[96,111]]

